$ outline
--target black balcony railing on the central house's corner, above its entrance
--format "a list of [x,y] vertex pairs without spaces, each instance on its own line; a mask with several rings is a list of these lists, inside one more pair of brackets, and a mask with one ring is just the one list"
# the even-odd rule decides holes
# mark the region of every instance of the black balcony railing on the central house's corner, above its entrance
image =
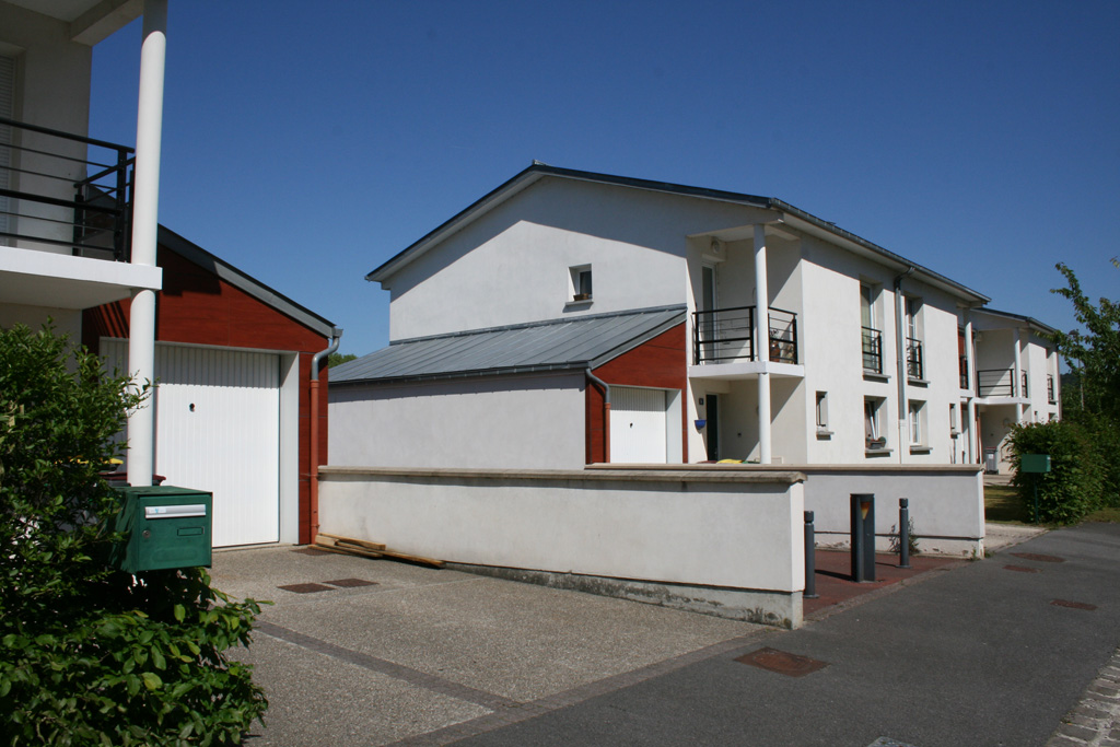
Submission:
[[[768,360],[775,363],[797,363],[797,315],[772,308],[768,326]],[[694,365],[757,360],[754,306],[692,314]]]

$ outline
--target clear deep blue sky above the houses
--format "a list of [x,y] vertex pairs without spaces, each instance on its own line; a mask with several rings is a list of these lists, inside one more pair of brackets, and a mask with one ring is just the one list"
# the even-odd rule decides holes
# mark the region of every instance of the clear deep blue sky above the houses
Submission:
[[[1063,329],[1120,297],[1118,2],[171,0],[160,222],[388,343],[364,276],[529,166],[778,197]],[[133,143],[139,22],[94,49]]]

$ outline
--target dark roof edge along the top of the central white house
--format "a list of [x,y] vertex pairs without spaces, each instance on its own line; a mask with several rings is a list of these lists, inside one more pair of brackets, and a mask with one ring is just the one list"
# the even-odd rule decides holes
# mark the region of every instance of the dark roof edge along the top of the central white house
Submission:
[[538,176],[538,175],[539,176],[557,176],[557,177],[564,177],[564,178],[569,178],[569,179],[581,179],[581,180],[585,180],[585,181],[597,181],[597,183],[600,183],[600,184],[609,184],[609,185],[615,185],[615,186],[620,186],[620,187],[633,187],[633,188],[637,188],[637,189],[648,189],[648,190],[653,190],[653,192],[663,192],[663,193],[670,193],[670,194],[675,194],[675,195],[683,195],[683,196],[688,196],[688,197],[699,197],[699,198],[703,198],[703,199],[718,199],[718,200],[724,200],[724,202],[738,203],[738,204],[741,204],[741,205],[750,205],[753,207],[759,207],[759,208],[763,208],[763,209],[780,211],[780,212],[783,212],[783,213],[787,213],[787,214],[790,214],[790,215],[792,215],[792,216],[794,216],[794,217],[796,217],[796,218],[799,218],[801,221],[804,221],[805,223],[809,223],[809,224],[811,224],[811,225],[813,225],[813,226],[815,226],[815,227],[818,227],[818,228],[820,228],[822,231],[831,233],[831,234],[833,234],[833,235],[836,235],[836,236],[838,236],[840,239],[843,239],[843,240],[850,241],[850,242],[852,242],[855,244],[858,244],[859,246],[862,246],[864,249],[867,249],[867,250],[871,251],[872,253],[883,256],[884,259],[887,259],[887,260],[889,260],[889,261],[892,261],[892,262],[894,262],[896,264],[899,264],[903,268],[913,267],[916,271],[921,272],[924,276],[927,276],[930,279],[934,280],[935,282],[937,282],[940,284],[943,284],[943,286],[945,286],[948,288],[951,288],[952,290],[954,290],[955,292],[960,293],[961,296],[971,298],[976,302],[987,304],[989,300],[991,300],[987,296],[984,296],[983,293],[980,293],[980,292],[978,292],[976,290],[972,290],[968,286],[959,283],[955,280],[952,280],[951,278],[946,278],[945,276],[943,276],[943,274],[941,274],[939,272],[934,272],[933,270],[930,270],[928,268],[922,267],[921,264],[918,264],[916,262],[912,262],[911,260],[907,260],[906,258],[902,256],[900,254],[895,254],[894,252],[892,252],[892,251],[889,251],[887,249],[884,249],[883,246],[879,246],[878,244],[876,244],[876,243],[874,243],[871,241],[868,241],[867,239],[862,239],[861,236],[858,236],[857,234],[853,234],[850,231],[846,231],[843,228],[840,228],[834,223],[830,223],[828,221],[819,218],[815,215],[813,215],[812,213],[806,213],[805,211],[803,211],[803,209],[801,209],[799,207],[795,207],[795,206],[793,206],[793,205],[791,205],[791,204],[788,204],[786,202],[777,199],[776,197],[762,197],[762,196],[758,196],[758,195],[747,195],[747,194],[743,194],[743,193],[727,192],[727,190],[724,190],[724,189],[708,189],[708,188],[704,188],[704,187],[690,187],[690,186],[687,186],[687,185],[673,184],[671,181],[654,181],[654,180],[651,180],[651,179],[636,179],[636,178],[633,178],[633,177],[620,177],[620,176],[614,176],[614,175],[610,175],[610,174],[599,174],[597,171],[581,171],[579,169],[566,169],[566,168],[560,168],[560,167],[557,167],[557,166],[549,166],[548,164],[541,164],[540,161],[533,161],[528,168],[523,169],[522,171],[520,171],[519,174],[516,174],[512,178],[507,179],[502,185],[500,185],[497,188],[492,189],[491,192],[486,193],[483,197],[480,197],[479,199],[476,199],[469,206],[467,206],[463,211],[459,211],[451,218],[449,218],[448,221],[445,221],[444,223],[441,223],[439,226],[437,226],[432,231],[429,231],[420,240],[413,242],[408,248],[405,248],[403,251],[394,254],[390,260],[388,260],[386,262],[384,262],[383,264],[381,264],[379,268],[376,268],[375,270],[373,270],[368,274],[366,274],[365,279],[370,280],[370,281],[383,280],[382,276],[384,273],[386,273],[388,271],[392,270],[393,265],[400,264],[401,260],[404,260],[407,258],[407,255],[411,254],[416,249],[422,246],[424,243],[427,243],[428,241],[430,241],[435,236],[439,235],[440,233],[446,232],[448,228],[450,228],[451,226],[454,226],[456,223],[458,223],[459,221],[461,221],[463,218],[465,218],[469,214],[474,213],[475,211],[479,209],[480,207],[483,207],[487,203],[493,202],[501,193],[508,190],[511,187],[513,187],[519,181],[525,180],[529,177],[533,177],[533,176]]

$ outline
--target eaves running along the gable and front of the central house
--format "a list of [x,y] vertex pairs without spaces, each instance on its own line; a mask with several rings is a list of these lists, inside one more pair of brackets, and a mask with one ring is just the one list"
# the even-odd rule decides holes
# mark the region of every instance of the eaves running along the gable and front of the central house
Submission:
[[636,179],[632,177],[620,177],[613,176],[609,174],[598,174],[595,171],[581,171],[578,169],[566,169],[556,166],[549,166],[547,164],[541,164],[539,161],[533,161],[529,168],[522,170],[520,174],[508,179],[496,189],[484,195],[480,199],[472,203],[466,209],[460,211],[449,221],[444,222],[433,231],[426,234],[419,241],[412,243],[410,246],[404,249],[404,251],[398,253],[389,261],[381,264],[379,268],[366,274],[365,279],[370,281],[384,282],[399,269],[403,268],[405,264],[411,262],[416,256],[419,256],[424,251],[427,251],[431,245],[438,241],[445,239],[446,236],[455,233],[456,231],[463,228],[467,223],[478,218],[493,207],[500,205],[504,200],[508,199],[516,193],[529,187],[536,180],[544,176],[561,177],[566,179],[577,179],[582,181],[592,181],[596,184],[607,184],[619,187],[628,187],[634,189],[646,189],[650,192],[659,192],[672,195],[682,195],[687,197],[696,197],[699,199],[712,199],[725,203],[735,203],[737,205],[746,205],[750,207],[758,207],[763,209],[771,209],[784,215],[787,215],[795,221],[800,221],[813,228],[821,231],[823,233],[830,234],[836,239],[855,244],[856,246],[862,249],[866,253],[878,258],[899,271],[905,271],[907,268],[914,268],[914,272],[920,279],[931,282],[944,290],[954,293],[963,299],[965,299],[970,305],[982,305],[987,304],[990,299],[967,286],[956,282],[945,276],[934,272],[928,268],[922,267],[917,262],[913,262],[900,254],[896,254],[878,244],[870,242],[861,236],[858,236],[850,231],[846,231],[834,223],[819,218],[815,215],[808,213],[799,207],[795,207],[786,202],[777,199],[776,197],[762,197],[758,195],[747,195],[743,193],[727,192],[722,189],[708,189],[704,187],[690,187],[687,185],[673,184],[669,181],[654,181],[650,179]]

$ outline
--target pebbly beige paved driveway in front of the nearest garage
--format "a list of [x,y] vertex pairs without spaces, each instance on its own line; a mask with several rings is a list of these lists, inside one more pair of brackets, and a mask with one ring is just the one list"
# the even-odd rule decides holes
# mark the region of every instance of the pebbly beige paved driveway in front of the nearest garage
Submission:
[[[432,737],[439,744],[774,633],[576,591],[311,552],[214,555],[217,588],[276,603],[264,608],[252,647],[237,654],[254,664],[271,703],[252,745],[386,745],[444,730]],[[323,588],[281,588],[299,585]],[[465,731],[454,730],[466,721]]]

